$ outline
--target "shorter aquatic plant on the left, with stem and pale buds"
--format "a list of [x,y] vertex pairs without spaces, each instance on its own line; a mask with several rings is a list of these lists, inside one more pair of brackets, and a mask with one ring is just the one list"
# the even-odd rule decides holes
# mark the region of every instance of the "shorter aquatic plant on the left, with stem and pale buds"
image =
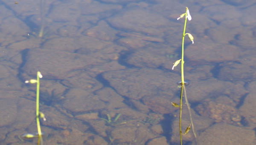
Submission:
[[31,83],[31,84],[35,84],[37,83],[36,86],[36,105],[35,105],[35,117],[36,117],[36,124],[37,124],[37,128],[38,128],[38,133],[32,134],[32,133],[26,133],[23,134],[21,136],[19,136],[19,138],[21,140],[23,139],[34,139],[36,137],[38,137],[38,145],[43,145],[43,139],[42,137],[42,132],[41,132],[41,126],[40,126],[40,121],[39,121],[39,117],[44,119],[44,121],[46,121],[45,117],[44,117],[44,113],[39,112],[39,88],[40,88],[40,82],[39,79],[42,78],[43,75],[41,75],[41,73],[38,71],[37,72],[37,79],[31,79],[29,81],[25,81],[25,83]]

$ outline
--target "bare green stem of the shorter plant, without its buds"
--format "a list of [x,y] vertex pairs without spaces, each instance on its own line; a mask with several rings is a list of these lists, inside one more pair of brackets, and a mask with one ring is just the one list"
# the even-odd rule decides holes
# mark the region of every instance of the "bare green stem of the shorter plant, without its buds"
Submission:
[[36,124],[38,128],[38,138],[41,138],[41,127],[40,127],[40,122],[39,122],[39,87],[40,87],[40,82],[39,82],[39,73],[37,73],[37,85],[36,85],[36,107],[35,107],[35,116],[36,116]]

